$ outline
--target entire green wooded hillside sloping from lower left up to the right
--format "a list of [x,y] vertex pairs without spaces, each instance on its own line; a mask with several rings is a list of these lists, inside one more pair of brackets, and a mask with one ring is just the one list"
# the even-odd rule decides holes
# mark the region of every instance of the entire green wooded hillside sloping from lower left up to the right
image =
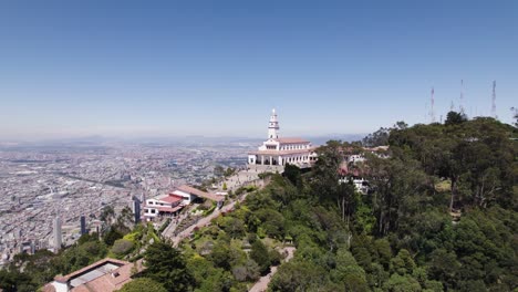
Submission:
[[[283,176],[267,175],[265,189],[196,229],[178,250],[156,239],[143,254],[121,253],[115,243],[149,242],[142,234],[153,230],[141,226],[120,239],[130,231],[114,228],[58,257],[19,257],[0,284],[31,291],[110,252],[146,260],[124,291],[247,291],[272,265],[271,291],[516,291],[517,136],[493,118],[449,113],[444,125],[397,123],[370,135],[369,146],[388,144],[384,155],[329,142],[311,171],[288,165]],[[365,195],[339,171],[348,153],[366,157],[349,165],[369,180]],[[297,251],[282,262],[287,246]],[[17,281],[24,284],[14,289]]]

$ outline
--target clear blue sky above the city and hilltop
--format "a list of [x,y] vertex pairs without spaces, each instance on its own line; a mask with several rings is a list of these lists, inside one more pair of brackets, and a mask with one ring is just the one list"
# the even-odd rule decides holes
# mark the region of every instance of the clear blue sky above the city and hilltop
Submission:
[[369,133],[518,106],[518,1],[1,1],[0,139]]

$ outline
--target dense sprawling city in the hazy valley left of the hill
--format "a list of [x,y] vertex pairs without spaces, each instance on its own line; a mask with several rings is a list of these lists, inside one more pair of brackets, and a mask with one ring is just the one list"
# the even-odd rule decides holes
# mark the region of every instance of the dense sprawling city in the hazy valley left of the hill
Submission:
[[104,206],[121,210],[133,196],[153,197],[200,184],[215,166],[244,167],[253,143],[122,144],[0,147],[0,252],[52,248],[52,222],[62,217],[63,243],[92,226]]

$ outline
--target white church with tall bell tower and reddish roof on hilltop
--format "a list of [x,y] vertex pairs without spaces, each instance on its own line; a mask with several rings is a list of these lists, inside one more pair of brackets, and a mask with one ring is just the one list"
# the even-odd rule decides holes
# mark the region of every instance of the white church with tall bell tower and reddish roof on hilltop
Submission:
[[248,154],[249,165],[286,165],[310,167],[317,160],[311,142],[301,138],[279,138],[279,121],[273,108],[268,125],[268,139],[257,152]]

